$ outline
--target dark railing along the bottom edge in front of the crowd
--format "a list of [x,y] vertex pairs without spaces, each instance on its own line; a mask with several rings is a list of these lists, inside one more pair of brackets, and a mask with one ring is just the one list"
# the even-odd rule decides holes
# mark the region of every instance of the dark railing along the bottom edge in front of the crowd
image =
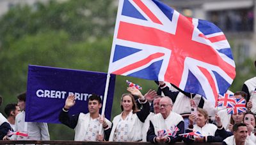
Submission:
[[[150,145],[150,142],[85,142],[85,141],[0,141],[0,144],[86,144],[86,145],[101,145],[101,144],[114,144],[114,145]],[[184,142],[176,142],[177,145],[185,145]],[[195,144],[209,144],[209,145],[221,145],[220,142],[213,142],[213,143],[193,143]]]

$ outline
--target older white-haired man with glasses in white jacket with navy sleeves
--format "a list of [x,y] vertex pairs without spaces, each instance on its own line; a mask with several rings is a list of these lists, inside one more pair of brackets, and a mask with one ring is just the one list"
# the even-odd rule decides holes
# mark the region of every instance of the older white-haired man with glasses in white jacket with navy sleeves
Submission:
[[[173,102],[169,97],[163,97],[160,102],[160,113],[154,115],[150,119],[150,127],[147,132],[147,141],[150,142],[179,142],[182,141],[182,137],[179,134],[184,133],[184,120],[180,114],[172,111]],[[159,132],[163,130],[172,130],[172,128],[179,128],[177,134],[172,135],[159,135]]]

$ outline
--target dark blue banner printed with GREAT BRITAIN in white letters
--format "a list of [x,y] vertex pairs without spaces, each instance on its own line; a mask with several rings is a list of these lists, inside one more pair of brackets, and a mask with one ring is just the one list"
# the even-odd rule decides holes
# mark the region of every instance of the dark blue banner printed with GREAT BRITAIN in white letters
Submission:
[[[107,74],[103,72],[28,66],[26,121],[60,123],[58,116],[70,93],[76,97],[70,114],[88,113],[88,97],[104,97]],[[115,75],[109,80],[105,116],[110,120],[115,89]],[[101,109],[100,109],[101,112]]]

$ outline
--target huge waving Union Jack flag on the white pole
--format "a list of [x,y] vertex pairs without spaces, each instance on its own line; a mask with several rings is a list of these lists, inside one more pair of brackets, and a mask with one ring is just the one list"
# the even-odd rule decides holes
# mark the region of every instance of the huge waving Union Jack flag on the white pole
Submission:
[[230,45],[216,25],[157,0],[120,0],[108,72],[167,81],[214,103],[236,76]]

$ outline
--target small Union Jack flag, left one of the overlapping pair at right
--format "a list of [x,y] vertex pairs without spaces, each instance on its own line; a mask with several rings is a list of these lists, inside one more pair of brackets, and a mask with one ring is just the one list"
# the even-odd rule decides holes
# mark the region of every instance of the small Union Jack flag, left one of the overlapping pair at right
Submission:
[[218,95],[218,104],[217,107],[234,107],[236,104],[236,98],[234,95],[229,93],[224,93],[223,95]]

